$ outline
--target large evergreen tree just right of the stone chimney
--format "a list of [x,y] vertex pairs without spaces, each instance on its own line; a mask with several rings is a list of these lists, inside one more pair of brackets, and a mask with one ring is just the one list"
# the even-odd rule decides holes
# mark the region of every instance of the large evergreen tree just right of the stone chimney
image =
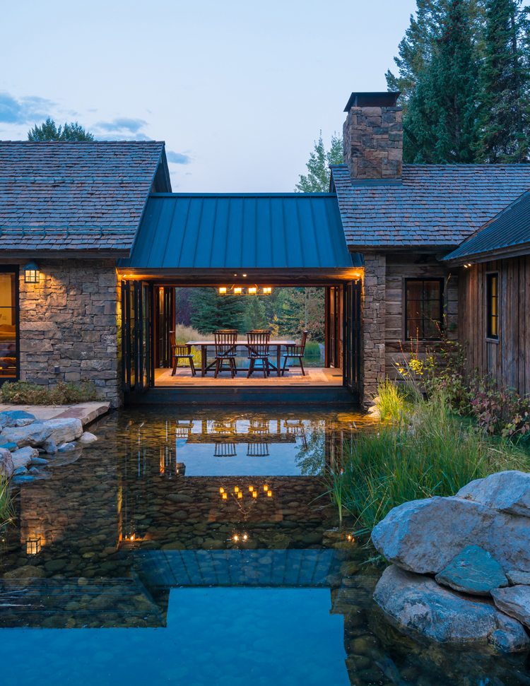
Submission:
[[464,0],[451,0],[432,57],[408,100],[404,161],[474,162],[478,140],[478,64]]

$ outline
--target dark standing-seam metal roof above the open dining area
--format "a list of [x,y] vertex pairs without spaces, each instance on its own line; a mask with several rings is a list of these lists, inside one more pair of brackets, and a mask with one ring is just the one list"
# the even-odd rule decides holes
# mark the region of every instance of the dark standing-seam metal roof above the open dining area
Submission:
[[348,268],[334,194],[153,194],[131,268]]

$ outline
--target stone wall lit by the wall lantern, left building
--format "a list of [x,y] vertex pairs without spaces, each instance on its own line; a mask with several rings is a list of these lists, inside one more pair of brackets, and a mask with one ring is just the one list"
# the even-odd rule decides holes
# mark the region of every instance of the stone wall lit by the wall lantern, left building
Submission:
[[[121,403],[116,261],[39,260],[39,283],[20,264],[20,379],[45,386],[90,379]],[[55,372],[59,367],[59,372]]]

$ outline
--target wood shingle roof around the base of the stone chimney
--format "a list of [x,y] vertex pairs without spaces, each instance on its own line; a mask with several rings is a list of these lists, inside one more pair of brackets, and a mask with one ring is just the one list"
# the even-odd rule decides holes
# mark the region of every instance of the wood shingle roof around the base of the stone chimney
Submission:
[[530,165],[404,165],[396,182],[331,167],[348,245],[457,246],[530,189]]

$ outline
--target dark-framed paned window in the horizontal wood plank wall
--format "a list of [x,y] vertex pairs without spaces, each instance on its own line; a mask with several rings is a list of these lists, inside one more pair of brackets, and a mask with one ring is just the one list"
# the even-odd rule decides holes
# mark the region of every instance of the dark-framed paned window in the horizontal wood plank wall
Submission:
[[405,281],[406,340],[432,341],[442,334],[444,280],[408,278]]

